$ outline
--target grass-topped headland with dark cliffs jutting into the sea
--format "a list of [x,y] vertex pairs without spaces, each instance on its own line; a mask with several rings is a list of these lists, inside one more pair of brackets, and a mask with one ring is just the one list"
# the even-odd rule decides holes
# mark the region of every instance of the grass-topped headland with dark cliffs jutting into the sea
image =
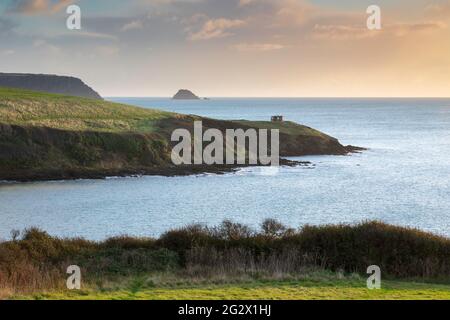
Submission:
[[174,166],[175,129],[279,129],[280,155],[344,155],[333,137],[293,122],[222,121],[156,109],[21,89],[0,88],[0,180],[184,175],[230,166]]

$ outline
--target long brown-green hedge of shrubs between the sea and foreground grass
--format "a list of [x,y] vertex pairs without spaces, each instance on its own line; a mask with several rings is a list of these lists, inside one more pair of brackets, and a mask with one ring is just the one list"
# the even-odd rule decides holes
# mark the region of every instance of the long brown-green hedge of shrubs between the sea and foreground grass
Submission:
[[67,266],[85,278],[180,270],[191,275],[295,274],[305,269],[365,273],[378,265],[386,276],[450,275],[450,239],[381,222],[305,226],[266,220],[260,232],[225,221],[193,225],[159,239],[116,237],[103,242],[59,239],[39,229],[0,243],[0,288],[33,290],[64,284]]

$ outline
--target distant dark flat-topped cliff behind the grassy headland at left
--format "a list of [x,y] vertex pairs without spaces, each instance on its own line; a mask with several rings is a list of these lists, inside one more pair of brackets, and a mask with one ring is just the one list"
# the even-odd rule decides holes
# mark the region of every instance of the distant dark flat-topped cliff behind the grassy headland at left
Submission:
[[97,92],[78,78],[49,74],[0,73],[0,87],[102,99]]

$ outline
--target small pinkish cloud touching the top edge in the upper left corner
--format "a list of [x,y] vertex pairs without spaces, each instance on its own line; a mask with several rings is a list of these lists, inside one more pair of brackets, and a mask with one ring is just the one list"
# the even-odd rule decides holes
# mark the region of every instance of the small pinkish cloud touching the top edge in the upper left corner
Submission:
[[12,12],[35,15],[54,14],[77,0],[17,0],[9,8]]

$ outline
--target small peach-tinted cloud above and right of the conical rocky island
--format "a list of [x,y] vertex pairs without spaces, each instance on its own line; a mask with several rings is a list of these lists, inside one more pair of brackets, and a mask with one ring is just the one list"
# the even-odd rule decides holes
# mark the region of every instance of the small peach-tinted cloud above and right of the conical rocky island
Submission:
[[239,19],[211,19],[206,21],[198,32],[189,36],[190,40],[209,40],[214,38],[223,38],[233,35],[230,29],[241,27],[245,21]]

